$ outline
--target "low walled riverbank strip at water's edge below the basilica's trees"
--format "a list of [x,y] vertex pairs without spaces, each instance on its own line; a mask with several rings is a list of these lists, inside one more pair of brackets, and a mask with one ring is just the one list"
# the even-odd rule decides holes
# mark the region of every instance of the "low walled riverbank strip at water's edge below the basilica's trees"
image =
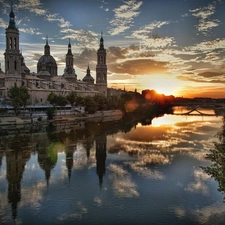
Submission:
[[42,116],[41,120],[38,117],[30,118],[20,117],[20,116],[5,116],[0,117],[0,126],[9,125],[26,125],[26,124],[46,124],[49,122],[63,123],[63,122],[75,122],[80,120],[95,120],[100,119],[103,121],[113,121],[119,120],[123,116],[120,110],[108,110],[108,111],[98,111],[95,114],[60,114],[57,115],[53,120],[48,121],[47,116]]

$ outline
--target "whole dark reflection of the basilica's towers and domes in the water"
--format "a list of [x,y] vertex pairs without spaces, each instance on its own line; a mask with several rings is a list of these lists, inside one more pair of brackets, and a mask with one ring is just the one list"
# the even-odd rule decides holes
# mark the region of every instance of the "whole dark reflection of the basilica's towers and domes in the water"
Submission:
[[[31,153],[37,153],[37,161],[40,168],[44,172],[46,185],[49,185],[51,180],[52,170],[55,168],[58,161],[58,151],[54,148],[57,142],[53,142],[47,135],[39,134],[35,139],[28,139],[26,135],[19,135],[13,140],[7,142],[7,148],[11,151],[5,153],[6,156],[6,178],[8,181],[8,203],[11,206],[12,218],[16,220],[18,205],[21,201],[21,182],[27,161],[30,159]],[[70,181],[72,170],[74,152],[77,149],[77,140],[67,139],[65,141],[65,166],[67,168],[67,175]],[[56,140],[56,139],[54,139]],[[99,178],[99,185],[102,186],[103,176],[105,174],[106,161],[106,133],[100,132],[98,135],[91,138],[83,139],[83,146],[86,150],[87,159],[90,156],[90,150],[94,146],[95,140],[95,157],[96,157],[96,173]],[[63,143],[63,142],[58,142]],[[1,151],[0,151],[1,153]],[[0,154],[0,163],[2,155]],[[0,165],[1,166],[1,165]]]

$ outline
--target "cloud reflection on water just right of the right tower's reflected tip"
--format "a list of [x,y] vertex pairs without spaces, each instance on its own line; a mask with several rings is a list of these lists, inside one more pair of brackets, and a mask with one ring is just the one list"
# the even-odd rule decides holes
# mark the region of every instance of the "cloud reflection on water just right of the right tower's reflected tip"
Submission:
[[139,196],[136,185],[132,182],[130,175],[122,166],[110,164],[109,170],[111,171],[109,178],[113,182],[113,190],[116,195],[127,198]]

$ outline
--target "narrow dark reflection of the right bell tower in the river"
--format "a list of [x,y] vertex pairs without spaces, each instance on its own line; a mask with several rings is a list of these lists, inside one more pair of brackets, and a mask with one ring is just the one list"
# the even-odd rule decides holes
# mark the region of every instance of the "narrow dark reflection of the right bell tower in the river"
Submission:
[[101,134],[96,138],[96,173],[99,176],[99,184],[102,186],[103,175],[105,174],[106,160],[106,135]]

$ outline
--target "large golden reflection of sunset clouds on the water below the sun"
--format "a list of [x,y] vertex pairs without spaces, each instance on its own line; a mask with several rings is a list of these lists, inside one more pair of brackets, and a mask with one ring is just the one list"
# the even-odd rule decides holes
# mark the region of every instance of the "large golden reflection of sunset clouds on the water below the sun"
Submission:
[[[221,124],[220,117],[171,116],[155,118],[155,125],[137,126],[128,134],[121,133],[109,147],[110,153],[125,152],[137,155],[138,159],[151,159],[153,153],[160,153],[155,163],[171,163],[176,153],[190,155],[198,160],[206,160],[213,136]],[[170,155],[169,157],[167,155]],[[161,160],[160,160],[161,157]],[[163,159],[164,157],[164,159]],[[151,164],[151,161],[149,161]]]

